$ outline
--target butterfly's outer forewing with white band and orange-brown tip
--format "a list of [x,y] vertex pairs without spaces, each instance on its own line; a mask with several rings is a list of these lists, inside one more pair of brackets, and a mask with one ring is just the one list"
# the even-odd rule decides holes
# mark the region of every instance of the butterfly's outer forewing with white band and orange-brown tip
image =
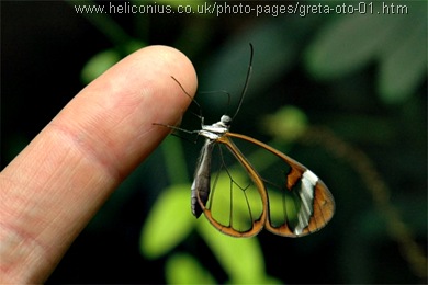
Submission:
[[[284,237],[302,237],[322,229],[335,213],[335,201],[331,193],[311,170],[297,161],[285,156],[281,151],[258,141],[251,137],[227,133],[222,137],[224,144],[233,144],[230,138],[238,138],[251,142],[264,150],[259,162],[246,159],[235,146],[230,151],[238,151],[240,163],[248,163],[254,172],[251,176],[259,176],[264,186],[260,191],[268,193],[268,201],[263,203],[268,207],[266,228]],[[236,156],[236,153],[235,153]],[[238,159],[239,160],[239,159]],[[260,160],[277,160],[278,164],[270,171],[256,172]],[[251,161],[251,162],[249,162]],[[261,163],[262,164],[262,163]]]

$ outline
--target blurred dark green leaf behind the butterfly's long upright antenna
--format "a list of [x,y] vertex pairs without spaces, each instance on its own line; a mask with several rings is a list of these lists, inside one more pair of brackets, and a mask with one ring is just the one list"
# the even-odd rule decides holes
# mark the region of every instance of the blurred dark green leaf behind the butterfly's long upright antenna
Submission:
[[[284,29],[293,29],[293,33],[284,33]],[[294,29],[301,27],[284,19],[272,19],[257,22],[245,33],[232,37],[207,62],[201,73],[200,90],[227,90],[232,101],[237,102],[248,70],[251,43],[254,72],[247,98],[266,92],[296,60],[299,49],[292,39],[296,34]],[[225,102],[225,96],[210,98],[212,105],[224,106]],[[236,102],[232,102],[232,105]]]

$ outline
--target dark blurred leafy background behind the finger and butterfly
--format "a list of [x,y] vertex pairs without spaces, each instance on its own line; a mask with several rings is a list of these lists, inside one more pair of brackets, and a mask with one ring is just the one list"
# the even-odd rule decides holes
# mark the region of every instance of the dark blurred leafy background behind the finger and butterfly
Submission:
[[[1,2],[1,169],[79,90],[147,45],[173,46],[192,60],[205,122],[217,122],[236,107],[252,43],[254,72],[233,132],[273,141],[317,173],[337,204],[326,228],[308,237],[226,237],[190,213],[200,144],[169,137],[48,284],[427,282],[427,3],[318,4]],[[137,13],[112,12],[132,5]],[[252,11],[238,13],[239,5]],[[320,10],[307,13],[308,5]],[[209,13],[218,9],[229,11]],[[204,93],[221,90],[229,104],[222,92]],[[181,126],[199,125],[189,115]]]

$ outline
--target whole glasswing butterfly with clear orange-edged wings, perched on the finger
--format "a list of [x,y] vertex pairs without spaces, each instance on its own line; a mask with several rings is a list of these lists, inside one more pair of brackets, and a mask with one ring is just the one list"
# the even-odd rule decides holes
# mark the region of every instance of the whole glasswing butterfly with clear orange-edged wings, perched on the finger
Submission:
[[[234,116],[223,115],[219,122],[205,125],[200,109],[201,129],[156,125],[205,138],[191,186],[191,209],[196,218],[204,213],[215,228],[233,237],[252,237],[263,227],[279,236],[306,236],[323,228],[335,213],[335,201],[327,186],[281,151],[229,132],[248,88],[252,56],[250,44],[247,78]],[[238,141],[247,146],[238,148]],[[248,145],[258,149],[251,158],[240,151]]]

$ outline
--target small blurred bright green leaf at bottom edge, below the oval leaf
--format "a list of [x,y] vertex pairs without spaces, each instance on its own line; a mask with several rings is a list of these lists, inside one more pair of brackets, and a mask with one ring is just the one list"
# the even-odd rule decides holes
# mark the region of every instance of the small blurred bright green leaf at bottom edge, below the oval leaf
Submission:
[[169,258],[165,274],[168,284],[217,284],[198,260],[188,254]]

